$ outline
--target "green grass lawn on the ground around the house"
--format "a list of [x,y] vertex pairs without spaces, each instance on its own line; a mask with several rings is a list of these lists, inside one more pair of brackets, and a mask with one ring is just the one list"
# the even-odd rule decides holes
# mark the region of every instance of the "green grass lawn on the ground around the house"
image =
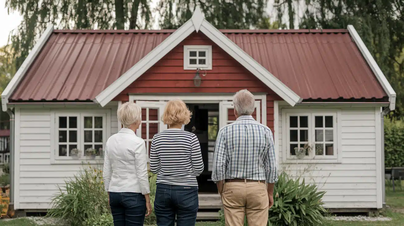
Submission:
[[[404,186],[403,186],[404,187]],[[382,212],[381,215],[392,218],[391,221],[379,221],[379,222],[368,222],[368,221],[329,221],[326,222],[325,226],[398,226],[404,225],[404,191],[400,188],[396,192],[391,191],[391,189],[386,189],[386,203],[391,208],[387,212]],[[1,226],[38,226],[34,222],[28,219],[16,219],[11,221],[1,221]],[[197,222],[196,226],[217,226],[217,222]],[[48,225],[44,225],[48,226]],[[50,225],[49,225],[50,226]]]

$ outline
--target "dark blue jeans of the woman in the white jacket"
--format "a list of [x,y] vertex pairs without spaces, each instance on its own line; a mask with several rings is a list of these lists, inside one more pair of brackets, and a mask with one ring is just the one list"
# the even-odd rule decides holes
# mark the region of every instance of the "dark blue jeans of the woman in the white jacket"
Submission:
[[143,226],[146,214],[146,199],[141,193],[110,192],[114,226]]

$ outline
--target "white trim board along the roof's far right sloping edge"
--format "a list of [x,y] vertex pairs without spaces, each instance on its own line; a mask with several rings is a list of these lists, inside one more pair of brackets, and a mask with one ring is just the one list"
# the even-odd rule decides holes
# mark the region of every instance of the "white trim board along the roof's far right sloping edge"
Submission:
[[387,81],[386,77],[384,76],[383,72],[381,71],[379,65],[377,65],[376,60],[373,58],[372,54],[370,54],[368,48],[365,46],[364,42],[360,38],[358,32],[353,27],[353,25],[348,25],[348,31],[351,35],[353,41],[355,41],[356,46],[358,46],[360,52],[362,53],[363,57],[365,58],[366,62],[368,62],[370,68],[372,69],[373,73],[375,74],[377,80],[383,87],[384,91],[389,96],[390,102],[390,110],[394,110],[396,108],[396,92],[394,91],[393,87],[391,87],[389,81]]

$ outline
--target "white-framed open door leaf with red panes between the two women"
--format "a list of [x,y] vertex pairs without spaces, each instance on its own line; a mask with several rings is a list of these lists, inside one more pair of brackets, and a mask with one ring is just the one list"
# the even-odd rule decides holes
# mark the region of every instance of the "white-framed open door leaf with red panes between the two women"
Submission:
[[142,108],[142,124],[136,130],[136,135],[145,140],[147,155],[150,157],[151,139],[156,133],[167,129],[161,120],[166,102],[138,100],[136,104]]

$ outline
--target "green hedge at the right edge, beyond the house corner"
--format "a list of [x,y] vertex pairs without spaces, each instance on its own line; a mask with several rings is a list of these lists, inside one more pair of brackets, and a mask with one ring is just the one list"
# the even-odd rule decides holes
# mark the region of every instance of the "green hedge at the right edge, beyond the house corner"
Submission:
[[385,167],[404,167],[404,122],[384,120]]

